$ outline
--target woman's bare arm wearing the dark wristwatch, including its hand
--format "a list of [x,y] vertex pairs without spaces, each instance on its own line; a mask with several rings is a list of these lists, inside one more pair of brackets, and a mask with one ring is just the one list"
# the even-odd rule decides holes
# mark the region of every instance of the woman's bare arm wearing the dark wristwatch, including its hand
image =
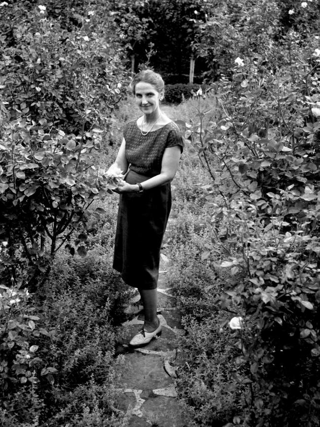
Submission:
[[[162,157],[160,174],[144,181],[143,189],[150,190],[151,188],[158,187],[158,185],[172,181],[178,169],[180,155],[180,145],[166,148]],[[137,192],[139,191],[139,187],[137,184],[128,184],[128,182],[125,182],[122,186],[117,187],[115,191],[118,193]]]

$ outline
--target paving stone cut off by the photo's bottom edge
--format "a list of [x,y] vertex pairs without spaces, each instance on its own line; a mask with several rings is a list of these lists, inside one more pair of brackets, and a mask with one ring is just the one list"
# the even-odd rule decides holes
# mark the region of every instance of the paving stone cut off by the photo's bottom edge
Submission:
[[176,397],[157,396],[142,405],[143,418],[159,427],[185,427],[184,410]]

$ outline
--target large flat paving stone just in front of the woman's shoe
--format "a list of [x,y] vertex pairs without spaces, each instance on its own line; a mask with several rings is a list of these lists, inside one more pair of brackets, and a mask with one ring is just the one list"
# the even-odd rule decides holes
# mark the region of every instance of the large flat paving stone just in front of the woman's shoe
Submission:
[[136,352],[126,355],[125,359],[125,364],[118,367],[123,388],[153,390],[172,384],[172,378],[163,369],[161,357]]

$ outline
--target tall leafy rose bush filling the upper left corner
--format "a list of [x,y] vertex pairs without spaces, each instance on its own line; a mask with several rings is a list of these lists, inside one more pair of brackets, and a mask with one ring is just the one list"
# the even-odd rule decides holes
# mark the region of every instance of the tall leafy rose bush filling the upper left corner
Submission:
[[2,99],[11,118],[41,119],[45,133],[62,128],[91,139],[85,132],[108,123],[126,75],[109,11],[88,22],[78,15],[81,25],[69,29],[47,12],[24,11],[34,19],[13,27],[11,39],[1,38]]

